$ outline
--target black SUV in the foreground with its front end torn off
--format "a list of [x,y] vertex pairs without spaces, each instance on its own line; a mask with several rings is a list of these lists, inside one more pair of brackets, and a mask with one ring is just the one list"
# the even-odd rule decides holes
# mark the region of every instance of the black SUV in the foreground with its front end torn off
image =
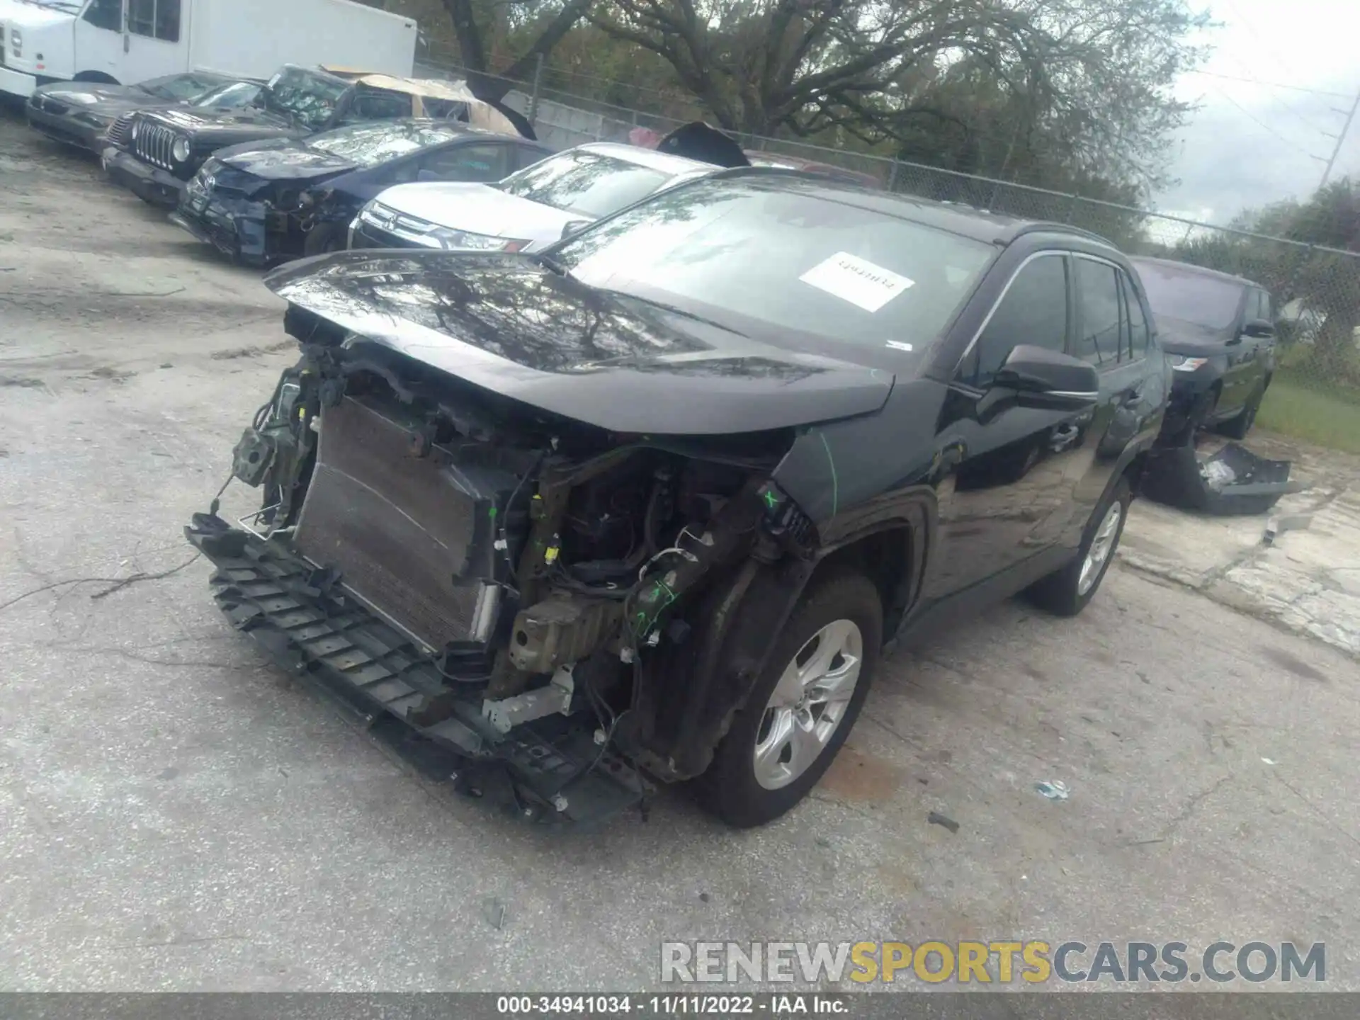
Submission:
[[885,642],[1080,612],[1170,386],[1100,238],[775,170],[268,286],[302,359],[237,445],[261,510],[188,528],[218,602],[544,820],[695,779],[768,821]]

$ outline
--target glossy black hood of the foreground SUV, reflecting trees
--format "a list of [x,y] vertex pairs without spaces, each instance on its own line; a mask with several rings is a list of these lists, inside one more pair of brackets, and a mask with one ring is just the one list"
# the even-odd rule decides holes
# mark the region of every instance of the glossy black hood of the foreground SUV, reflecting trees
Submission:
[[789,428],[877,411],[894,384],[588,287],[528,256],[339,252],[290,262],[265,286],[449,375],[615,432]]

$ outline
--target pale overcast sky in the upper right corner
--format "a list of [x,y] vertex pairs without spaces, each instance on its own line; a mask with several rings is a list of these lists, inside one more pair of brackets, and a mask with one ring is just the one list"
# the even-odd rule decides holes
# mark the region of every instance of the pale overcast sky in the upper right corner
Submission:
[[[1156,196],[1166,212],[1225,223],[1242,208],[1307,197],[1322,178],[1345,113],[1360,90],[1360,4],[1356,0],[1209,0],[1221,27],[1205,35],[1213,53],[1186,75],[1176,95],[1201,109],[1178,137],[1180,184]],[[1217,76],[1217,75],[1221,75]],[[1318,88],[1316,95],[1231,80]],[[1336,110],[1341,109],[1342,113]],[[1360,117],[1333,177],[1360,175]]]

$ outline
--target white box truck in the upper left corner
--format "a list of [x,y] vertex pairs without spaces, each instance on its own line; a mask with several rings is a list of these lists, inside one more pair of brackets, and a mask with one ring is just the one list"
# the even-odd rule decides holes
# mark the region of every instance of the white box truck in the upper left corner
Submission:
[[0,0],[0,92],[329,64],[409,78],[416,23],[350,0]]

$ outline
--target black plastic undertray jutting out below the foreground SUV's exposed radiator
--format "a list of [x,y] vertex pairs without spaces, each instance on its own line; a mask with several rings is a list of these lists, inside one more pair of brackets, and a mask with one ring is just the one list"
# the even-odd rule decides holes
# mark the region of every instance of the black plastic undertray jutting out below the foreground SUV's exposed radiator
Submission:
[[185,534],[218,567],[209,583],[219,608],[275,662],[366,724],[396,719],[471,771],[503,770],[506,806],[521,817],[596,823],[642,800],[645,779],[601,752],[593,725],[555,715],[500,733],[481,714],[480,688],[447,683],[333,571],[211,514],[194,514]]

